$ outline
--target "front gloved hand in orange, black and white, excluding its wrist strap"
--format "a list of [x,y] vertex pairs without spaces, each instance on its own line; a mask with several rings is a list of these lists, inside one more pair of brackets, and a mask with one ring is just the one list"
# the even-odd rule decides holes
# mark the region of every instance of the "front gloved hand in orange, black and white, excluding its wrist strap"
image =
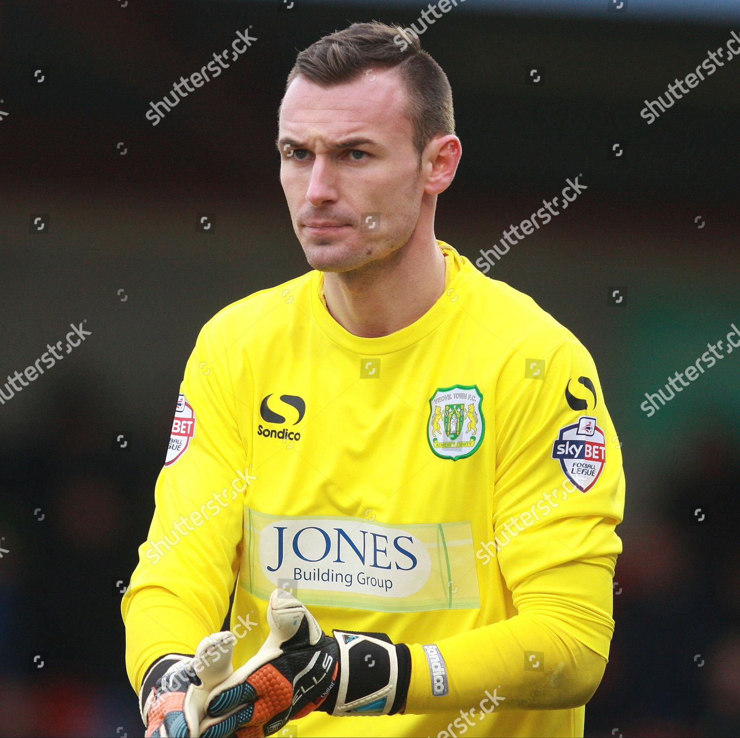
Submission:
[[[282,589],[267,606],[260,650],[208,696],[203,738],[269,736],[326,700],[339,670],[339,645]],[[241,729],[240,729],[241,728]]]

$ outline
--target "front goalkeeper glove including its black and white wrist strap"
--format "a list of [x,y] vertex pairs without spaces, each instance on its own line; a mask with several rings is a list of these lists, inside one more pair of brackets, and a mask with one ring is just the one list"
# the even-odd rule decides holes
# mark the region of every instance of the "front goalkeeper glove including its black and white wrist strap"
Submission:
[[411,677],[406,645],[377,633],[334,631],[330,638],[282,589],[270,597],[267,623],[257,654],[209,694],[203,738],[269,736],[317,709],[339,716],[403,708]]

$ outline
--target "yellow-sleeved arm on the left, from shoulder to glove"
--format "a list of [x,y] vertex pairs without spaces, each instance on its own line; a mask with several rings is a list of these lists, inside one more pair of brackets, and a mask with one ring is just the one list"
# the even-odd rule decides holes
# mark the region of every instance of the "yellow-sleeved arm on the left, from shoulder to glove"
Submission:
[[129,680],[138,691],[149,671],[147,694],[221,628],[238,571],[248,471],[224,346],[217,316],[188,360],[148,540],[121,604]]

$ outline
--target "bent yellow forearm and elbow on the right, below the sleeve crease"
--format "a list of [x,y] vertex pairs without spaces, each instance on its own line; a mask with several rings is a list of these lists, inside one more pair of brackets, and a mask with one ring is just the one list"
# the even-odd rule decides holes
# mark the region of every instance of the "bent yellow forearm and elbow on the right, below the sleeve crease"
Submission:
[[498,711],[585,705],[607,662],[612,561],[579,561],[531,577],[517,590],[517,615],[439,641],[449,688],[443,697],[434,696],[422,646],[412,645],[406,712],[473,708],[485,689],[500,698],[491,705]]

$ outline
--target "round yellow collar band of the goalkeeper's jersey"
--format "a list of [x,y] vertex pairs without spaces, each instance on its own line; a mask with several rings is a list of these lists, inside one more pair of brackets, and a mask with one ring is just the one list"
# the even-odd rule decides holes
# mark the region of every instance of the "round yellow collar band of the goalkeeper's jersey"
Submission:
[[440,298],[417,321],[389,335],[366,338],[349,332],[337,323],[323,301],[324,273],[314,270],[311,275],[311,303],[314,319],[326,335],[350,351],[363,356],[380,356],[405,349],[431,333],[450,314],[451,308],[459,305],[452,301],[450,289],[454,289],[462,270],[460,254],[449,244],[437,239],[445,256],[445,289]]

